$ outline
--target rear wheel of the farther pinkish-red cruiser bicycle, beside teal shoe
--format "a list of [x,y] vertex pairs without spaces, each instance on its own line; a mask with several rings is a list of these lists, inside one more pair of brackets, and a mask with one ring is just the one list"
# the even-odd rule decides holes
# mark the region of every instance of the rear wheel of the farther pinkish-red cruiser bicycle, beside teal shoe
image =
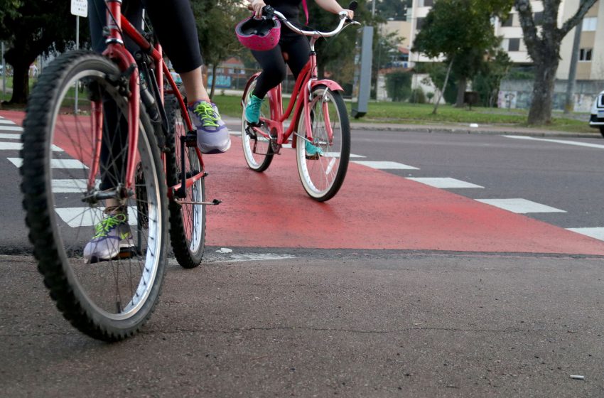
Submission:
[[[256,131],[249,127],[249,123],[245,119],[245,107],[247,107],[247,103],[249,102],[249,97],[252,96],[252,92],[254,91],[254,87],[256,87],[257,77],[249,84],[247,90],[243,93],[243,111],[241,115],[241,139],[243,146],[243,154],[245,156],[245,161],[247,162],[247,166],[251,168],[253,171],[258,171],[259,173],[265,171],[271,165],[271,161],[273,161],[273,149],[271,146],[271,141],[261,134],[258,134]],[[269,101],[268,99],[262,102],[262,107],[260,108],[260,116],[261,117],[269,117],[271,114],[269,109]],[[265,129],[266,130],[266,129]],[[268,135],[269,131],[265,131]]]

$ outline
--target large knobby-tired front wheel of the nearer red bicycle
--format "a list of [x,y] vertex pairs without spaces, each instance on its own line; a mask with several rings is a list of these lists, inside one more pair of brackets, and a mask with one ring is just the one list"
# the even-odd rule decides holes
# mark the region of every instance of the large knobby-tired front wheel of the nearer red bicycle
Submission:
[[[60,166],[55,168],[56,164],[53,163],[82,163],[92,156],[92,142],[87,143],[90,146],[78,146],[82,144],[81,131],[74,135],[71,132],[80,128],[86,131],[84,119],[87,112],[67,114],[62,107],[63,104],[72,103],[69,93],[73,82],[79,82],[76,83],[76,90],[85,91],[95,98],[102,95],[103,101],[108,99],[115,104],[117,112],[124,112],[127,100],[123,95],[124,90],[117,89],[115,78],[118,76],[119,70],[114,63],[87,51],[65,53],[48,65],[28,101],[23,123],[23,164],[20,168],[29,240],[38,260],[38,270],[50,290],[50,297],[72,326],[93,338],[107,341],[131,336],[149,320],[161,294],[166,269],[166,179],[156,137],[142,104],[139,146],[136,149],[141,179],[136,179],[136,194],[124,200],[128,211],[133,213],[129,223],[136,222],[136,230],[131,232],[136,246],[129,247],[130,252],[126,253],[129,258],[122,259],[120,253],[120,258],[106,262],[85,262],[81,244],[90,239],[90,235],[86,234],[92,233],[85,217],[90,216],[95,220],[99,205],[85,205],[77,210],[79,213],[75,213],[75,217],[70,216],[66,220],[59,213],[59,210],[65,210],[58,207],[62,200],[68,203],[69,198],[75,203],[80,199],[81,203],[84,195],[78,192],[80,188],[77,184],[76,188],[63,190],[55,188],[55,181],[51,179],[62,173],[68,176],[75,176],[76,172],[87,173],[90,169],[84,165],[76,171],[70,171]],[[87,99],[85,95],[81,98],[82,102]],[[90,109],[92,114],[94,107]],[[108,109],[105,106],[103,112],[109,112]],[[103,119],[107,117],[103,115]],[[74,119],[75,124],[70,124],[70,120]],[[119,120],[121,122],[123,119]],[[120,128],[115,127],[114,133]],[[65,139],[65,136],[68,138]],[[69,142],[69,138],[74,141]],[[55,142],[64,144],[65,148],[56,148]],[[72,146],[68,148],[70,144]],[[68,155],[72,158],[62,157]],[[123,154],[119,156],[123,158]],[[111,164],[114,166],[115,163]],[[68,224],[74,220],[80,224]],[[140,279],[136,279],[138,276]]]

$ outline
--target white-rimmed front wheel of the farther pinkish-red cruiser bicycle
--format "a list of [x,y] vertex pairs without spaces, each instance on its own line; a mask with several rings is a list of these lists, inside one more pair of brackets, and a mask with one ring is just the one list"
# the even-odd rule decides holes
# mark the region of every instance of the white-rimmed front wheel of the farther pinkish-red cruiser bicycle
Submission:
[[302,113],[296,133],[298,175],[306,193],[324,202],[338,193],[346,176],[350,123],[342,95],[325,85],[313,87],[308,107],[313,138],[306,138]]

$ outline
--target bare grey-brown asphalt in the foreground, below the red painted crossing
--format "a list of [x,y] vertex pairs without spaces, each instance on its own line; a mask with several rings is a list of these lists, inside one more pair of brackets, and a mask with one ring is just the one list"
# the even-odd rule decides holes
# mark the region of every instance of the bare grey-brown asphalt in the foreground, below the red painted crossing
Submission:
[[169,267],[151,321],[117,344],[64,321],[30,259],[0,257],[0,395],[604,394],[601,257],[212,253]]

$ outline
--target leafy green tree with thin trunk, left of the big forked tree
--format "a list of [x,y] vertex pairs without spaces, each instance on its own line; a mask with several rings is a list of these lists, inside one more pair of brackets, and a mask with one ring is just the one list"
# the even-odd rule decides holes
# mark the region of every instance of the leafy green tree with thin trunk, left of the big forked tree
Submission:
[[[512,1],[439,0],[426,16],[413,50],[429,58],[444,56],[458,79],[458,104],[463,104],[467,81],[480,70],[487,51],[499,43],[491,18],[507,14]],[[436,107],[438,99],[435,113]]]

